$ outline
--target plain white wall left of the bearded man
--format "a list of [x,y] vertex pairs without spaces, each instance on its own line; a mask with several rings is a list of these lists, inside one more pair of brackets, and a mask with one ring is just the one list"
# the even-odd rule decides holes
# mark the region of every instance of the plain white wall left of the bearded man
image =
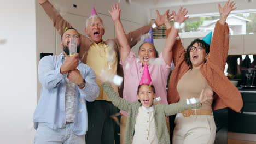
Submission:
[[1,1],[0,143],[33,143],[37,100],[34,0]]

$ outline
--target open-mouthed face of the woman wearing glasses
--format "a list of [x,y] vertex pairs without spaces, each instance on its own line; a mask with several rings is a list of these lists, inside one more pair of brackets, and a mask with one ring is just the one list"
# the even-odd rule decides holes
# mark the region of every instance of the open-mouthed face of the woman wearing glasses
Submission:
[[[200,49],[201,51],[198,51]],[[208,54],[205,51],[205,48],[203,48],[201,43],[196,42],[193,44],[193,46],[190,47],[190,50],[191,51],[189,52],[189,55],[193,68],[200,68],[208,56]]]

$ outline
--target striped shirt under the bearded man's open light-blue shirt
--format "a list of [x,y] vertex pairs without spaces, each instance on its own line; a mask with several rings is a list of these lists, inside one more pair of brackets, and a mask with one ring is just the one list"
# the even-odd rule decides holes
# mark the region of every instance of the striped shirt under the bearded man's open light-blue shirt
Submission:
[[75,122],[75,83],[72,83],[65,75],[65,112],[66,122]]

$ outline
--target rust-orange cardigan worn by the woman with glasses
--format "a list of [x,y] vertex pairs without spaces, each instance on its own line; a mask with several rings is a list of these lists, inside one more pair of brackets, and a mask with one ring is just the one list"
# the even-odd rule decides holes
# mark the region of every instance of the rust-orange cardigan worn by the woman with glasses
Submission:
[[[168,35],[170,31],[171,28],[167,29],[166,35]],[[169,104],[179,101],[177,83],[189,69],[189,66],[185,61],[185,49],[182,46],[181,40],[176,40],[172,50],[173,63],[176,67],[172,71],[168,85],[167,100]],[[240,112],[243,107],[241,94],[224,75],[228,50],[229,26],[227,23],[225,23],[225,25],[221,25],[218,21],[214,29],[207,62],[201,66],[200,71],[203,77],[205,77],[208,85],[216,93],[214,95],[212,109],[218,110],[230,107],[232,110]]]

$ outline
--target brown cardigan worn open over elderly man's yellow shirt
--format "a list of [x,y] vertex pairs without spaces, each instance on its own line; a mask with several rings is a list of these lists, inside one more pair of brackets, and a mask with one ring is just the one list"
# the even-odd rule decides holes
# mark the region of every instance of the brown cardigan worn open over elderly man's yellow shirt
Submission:
[[[71,23],[67,22],[63,17],[60,15],[59,11],[57,11],[53,5],[48,0],[39,0],[39,4],[43,7],[45,13],[50,17],[51,21],[54,23],[54,27],[56,31],[61,35],[66,27],[72,27]],[[114,25],[114,24],[113,24]],[[130,47],[135,46],[140,40],[141,35],[146,34],[149,32],[152,23],[149,23],[146,26],[136,29],[128,34],[126,34],[127,40],[129,41]],[[81,46],[79,52],[79,58],[83,63],[86,63],[87,59],[87,52],[94,41],[92,41],[89,37],[86,37],[83,34],[80,34],[81,38]],[[124,77],[123,68],[119,64],[120,61],[120,46],[118,39],[108,39],[104,41],[105,44],[112,44],[114,47],[115,52],[117,52],[118,58],[118,66],[117,66],[117,74]],[[118,88],[120,97],[123,97],[123,86]]]

